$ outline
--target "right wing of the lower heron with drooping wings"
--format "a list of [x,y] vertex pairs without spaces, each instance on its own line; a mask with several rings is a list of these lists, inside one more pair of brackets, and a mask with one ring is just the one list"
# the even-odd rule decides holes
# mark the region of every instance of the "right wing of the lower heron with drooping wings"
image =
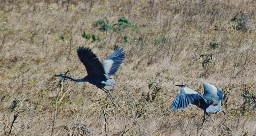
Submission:
[[204,94],[203,97],[209,101],[210,103],[213,102],[223,102],[223,91],[215,87],[214,85],[203,82],[204,85]]

